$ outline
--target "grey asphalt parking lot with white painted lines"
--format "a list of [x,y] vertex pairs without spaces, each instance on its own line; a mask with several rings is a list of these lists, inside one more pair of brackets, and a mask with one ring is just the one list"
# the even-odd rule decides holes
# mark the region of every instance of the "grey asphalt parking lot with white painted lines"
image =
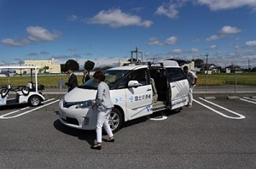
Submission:
[[[177,114],[128,121],[114,143],[58,120],[60,96],[39,107],[1,107],[1,168],[255,168],[256,99],[203,99]],[[107,138],[107,136],[103,136]]]

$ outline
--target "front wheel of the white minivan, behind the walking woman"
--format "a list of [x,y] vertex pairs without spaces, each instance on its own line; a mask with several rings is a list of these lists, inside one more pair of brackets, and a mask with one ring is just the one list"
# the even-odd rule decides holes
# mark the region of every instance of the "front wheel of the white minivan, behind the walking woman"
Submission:
[[123,125],[123,115],[118,109],[114,107],[110,112],[109,125],[112,132],[117,132]]

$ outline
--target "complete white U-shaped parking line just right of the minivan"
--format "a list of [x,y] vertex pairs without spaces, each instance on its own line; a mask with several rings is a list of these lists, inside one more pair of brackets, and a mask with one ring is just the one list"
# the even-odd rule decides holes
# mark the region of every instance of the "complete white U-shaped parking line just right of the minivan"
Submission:
[[232,114],[234,114],[234,115],[237,115],[238,117],[234,117],[234,116],[230,116],[230,115],[225,115],[224,113],[222,113],[222,112],[220,112],[220,111],[218,111],[218,110],[214,110],[214,109],[212,109],[211,107],[207,106],[206,104],[202,104],[200,101],[197,101],[197,100],[194,99],[195,103],[201,104],[202,106],[206,107],[206,108],[209,109],[209,110],[212,110],[213,112],[217,113],[218,115],[222,115],[222,116],[224,116],[224,117],[226,117],[226,118],[236,119],[236,120],[241,120],[241,119],[245,119],[245,118],[246,118],[244,115],[240,115],[240,114],[236,113],[235,111],[226,109],[226,108],[224,108],[223,106],[220,106],[220,105],[218,105],[218,104],[214,104],[214,103],[212,103],[212,102],[210,102],[210,101],[208,101],[208,100],[206,100],[206,99],[202,99],[202,98],[199,98],[199,99],[201,99],[201,100],[207,102],[208,104],[212,104],[212,105],[214,105],[214,106],[217,106],[218,108],[221,108],[221,109],[223,109],[223,110],[229,111],[230,113],[232,113]]

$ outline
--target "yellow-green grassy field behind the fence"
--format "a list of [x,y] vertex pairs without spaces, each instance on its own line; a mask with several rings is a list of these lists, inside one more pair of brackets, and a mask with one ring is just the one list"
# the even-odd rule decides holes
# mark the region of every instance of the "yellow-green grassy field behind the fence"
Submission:
[[[256,86],[256,73],[242,73],[242,74],[212,74],[204,75],[198,74],[197,86],[225,86],[225,85],[246,85]],[[79,85],[82,84],[82,75],[78,76]],[[58,87],[59,79],[67,82],[68,76],[63,74],[59,76],[38,76],[38,84],[43,84],[45,87]],[[26,85],[30,82],[30,76],[10,76],[0,77],[0,84],[6,87],[7,84],[12,84],[14,87]]]

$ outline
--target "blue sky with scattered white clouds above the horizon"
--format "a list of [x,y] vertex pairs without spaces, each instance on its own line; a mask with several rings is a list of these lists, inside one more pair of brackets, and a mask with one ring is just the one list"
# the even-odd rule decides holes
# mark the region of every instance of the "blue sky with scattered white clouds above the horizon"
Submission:
[[0,0],[0,65],[204,59],[256,67],[256,0]]

